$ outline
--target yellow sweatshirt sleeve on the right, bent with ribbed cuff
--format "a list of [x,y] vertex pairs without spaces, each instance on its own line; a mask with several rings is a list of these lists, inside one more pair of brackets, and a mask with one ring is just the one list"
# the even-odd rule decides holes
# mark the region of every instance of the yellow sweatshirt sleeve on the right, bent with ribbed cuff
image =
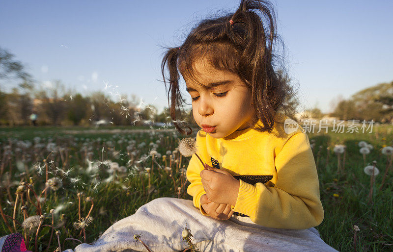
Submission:
[[318,226],[324,217],[319,180],[307,134],[292,135],[275,157],[274,187],[240,180],[233,211],[250,216],[264,227],[305,229]]

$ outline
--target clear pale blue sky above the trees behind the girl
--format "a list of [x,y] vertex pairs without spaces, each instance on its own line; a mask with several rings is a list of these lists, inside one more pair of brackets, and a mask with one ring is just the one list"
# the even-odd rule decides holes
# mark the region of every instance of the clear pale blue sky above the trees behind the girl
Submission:
[[[237,0],[0,1],[0,47],[37,85],[59,79],[74,92],[137,95],[167,106],[162,47]],[[305,107],[329,112],[338,96],[393,81],[393,1],[274,1],[289,74]],[[9,90],[16,83],[0,82]],[[185,91],[184,91],[185,92]]]

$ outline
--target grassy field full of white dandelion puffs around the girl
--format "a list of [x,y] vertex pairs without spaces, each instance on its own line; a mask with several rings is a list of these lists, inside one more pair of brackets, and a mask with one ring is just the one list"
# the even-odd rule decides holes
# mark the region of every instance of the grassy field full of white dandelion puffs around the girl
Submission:
[[[374,126],[372,133],[309,134],[325,210],[324,221],[316,228],[322,239],[339,251],[353,251],[354,236],[358,251],[393,250],[393,172],[387,166],[389,156],[381,152],[393,143],[392,128]],[[91,243],[114,222],[152,199],[191,199],[186,193],[189,183],[184,169],[189,158],[180,157],[175,150],[183,137],[173,130],[148,127],[0,128],[0,208],[7,220],[0,221],[0,236],[16,229],[29,236],[28,249],[44,251],[50,244],[48,251],[54,251],[59,246],[59,230],[61,249],[74,248],[79,242],[66,239],[84,241],[85,237]],[[360,153],[360,141],[369,144],[368,154]],[[337,155],[334,148],[339,144],[346,148]],[[364,168],[373,160],[380,173],[372,182],[369,198],[371,177]],[[386,169],[390,170],[381,187]],[[20,186],[21,182],[25,185]],[[43,192],[39,204],[33,191],[37,195]],[[79,198],[81,217],[93,217],[90,224],[78,222]],[[28,226],[29,231],[18,224],[26,218],[22,205],[27,205],[25,212],[30,217],[45,214],[37,224],[38,234],[37,227]],[[354,225],[360,231],[355,232]]]

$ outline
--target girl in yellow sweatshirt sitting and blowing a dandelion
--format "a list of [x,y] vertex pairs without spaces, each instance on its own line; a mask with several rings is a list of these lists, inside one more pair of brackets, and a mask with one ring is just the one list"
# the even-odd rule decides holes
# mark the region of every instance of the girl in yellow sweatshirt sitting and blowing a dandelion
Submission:
[[235,13],[200,22],[164,56],[172,120],[184,101],[182,76],[201,128],[197,154],[206,164],[193,155],[187,169],[193,202],[153,200],[75,251],[144,251],[136,234],[152,251],[182,251],[186,224],[200,251],[335,251],[314,228],[324,213],[308,136],[285,127],[290,89],[275,67],[271,9],[242,0]]

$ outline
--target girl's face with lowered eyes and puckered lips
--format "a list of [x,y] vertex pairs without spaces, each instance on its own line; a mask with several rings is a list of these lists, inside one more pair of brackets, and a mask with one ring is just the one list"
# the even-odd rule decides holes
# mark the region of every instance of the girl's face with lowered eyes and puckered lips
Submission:
[[[197,125],[214,138],[248,127],[254,116],[251,91],[239,76],[219,71],[203,61],[195,64],[197,81],[185,79]],[[214,126],[204,127],[204,126]]]

